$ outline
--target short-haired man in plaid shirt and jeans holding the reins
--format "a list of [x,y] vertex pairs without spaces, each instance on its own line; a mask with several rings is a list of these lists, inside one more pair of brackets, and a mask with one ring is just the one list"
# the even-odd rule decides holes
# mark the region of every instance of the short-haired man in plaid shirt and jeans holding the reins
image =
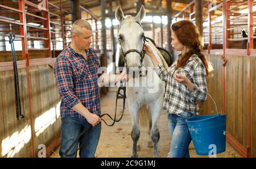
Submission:
[[[76,20],[71,33],[72,41],[59,54],[54,67],[61,96],[60,156],[76,157],[77,147],[80,144],[82,145],[80,157],[94,157],[101,133],[101,108],[97,83],[100,63],[96,52],[90,48],[92,43],[90,23],[83,19]],[[109,79],[107,77],[109,75],[104,73],[100,78]],[[128,79],[125,71],[110,78],[115,82]],[[81,137],[80,142],[67,152],[83,130],[86,130],[86,133]]]

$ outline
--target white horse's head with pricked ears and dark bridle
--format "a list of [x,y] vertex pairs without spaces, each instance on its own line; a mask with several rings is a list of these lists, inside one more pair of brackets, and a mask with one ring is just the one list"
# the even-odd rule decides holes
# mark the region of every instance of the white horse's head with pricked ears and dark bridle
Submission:
[[119,21],[118,40],[121,45],[121,54],[127,67],[141,67],[144,57],[143,43],[145,36],[141,27],[141,20],[145,16],[144,6],[136,17],[124,16],[120,6],[115,10],[115,18]]

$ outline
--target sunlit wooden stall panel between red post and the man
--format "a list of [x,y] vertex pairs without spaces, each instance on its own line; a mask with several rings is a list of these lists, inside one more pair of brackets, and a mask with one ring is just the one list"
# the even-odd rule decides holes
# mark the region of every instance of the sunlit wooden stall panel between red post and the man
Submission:
[[34,124],[35,155],[40,145],[49,146],[60,137],[59,94],[49,65],[30,67],[31,108]]

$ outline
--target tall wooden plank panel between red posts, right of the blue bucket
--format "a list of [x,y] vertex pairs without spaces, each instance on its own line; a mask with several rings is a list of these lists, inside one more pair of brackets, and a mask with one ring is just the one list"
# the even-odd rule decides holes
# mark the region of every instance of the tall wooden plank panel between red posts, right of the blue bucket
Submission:
[[227,55],[226,130],[243,147],[247,147],[247,65],[248,57]]

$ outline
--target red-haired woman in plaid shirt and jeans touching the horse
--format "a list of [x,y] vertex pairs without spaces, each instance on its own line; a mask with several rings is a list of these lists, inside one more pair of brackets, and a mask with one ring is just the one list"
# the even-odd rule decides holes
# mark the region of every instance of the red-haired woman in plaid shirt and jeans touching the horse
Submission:
[[168,111],[168,126],[171,147],[168,157],[189,157],[188,146],[191,136],[186,119],[197,115],[196,101],[207,99],[208,62],[202,53],[199,29],[190,20],[172,24],[172,46],[181,51],[174,64],[164,69],[148,45],[144,46],[155,71],[162,81],[167,82],[164,109]]

